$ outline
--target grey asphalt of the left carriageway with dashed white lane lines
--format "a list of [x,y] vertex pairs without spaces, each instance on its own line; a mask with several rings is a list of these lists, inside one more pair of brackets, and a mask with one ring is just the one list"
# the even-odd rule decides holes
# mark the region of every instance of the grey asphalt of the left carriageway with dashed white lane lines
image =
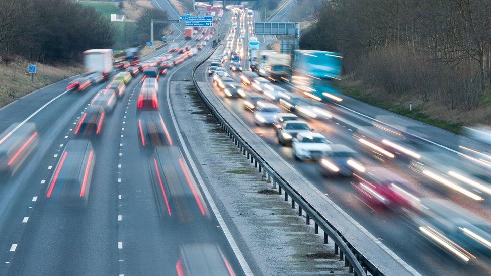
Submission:
[[[217,33],[222,28],[219,25]],[[184,40],[180,34],[176,30],[169,38],[179,47],[194,47],[199,42],[194,37]],[[138,137],[136,98],[141,89],[141,75],[128,83],[116,107],[106,117],[102,133],[91,138],[96,157],[85,208],[73,208],[47,198],[48,184],[51,185],[58,162],[62,162],[61,153],[67,142],[76,139],[74,129],[81,114],[106,83],[81,92],[65,91],[70,78],[0,109],[0,132],[25,118],[24,122],[35,123],[40,137],[20,170],[12,177],[3,176],[1,181],[0,274],[155,274],[158,271],[158,274],[172,275],[185,270],[210,275],[251,274],[195,170],[169,101],[169,78],[181,80],[189,76],[189,71],[184,70],[186,65],[209,53],[210,45],[171,68],[158,81],[159,111],[168,138],[166,146],[160,147],[163,170],[161,175],[156,173],[158,180],[167,177],[161,190],[163,194],[167,190],[165,198],[159,194],[160,190],[152,187],[155,185],[152,170],[156,170],[152,166],[152,161],[156,162],[153,148],[148,145],[142,148]],[[166,46],[144,60],[166,54],[168,50]]]

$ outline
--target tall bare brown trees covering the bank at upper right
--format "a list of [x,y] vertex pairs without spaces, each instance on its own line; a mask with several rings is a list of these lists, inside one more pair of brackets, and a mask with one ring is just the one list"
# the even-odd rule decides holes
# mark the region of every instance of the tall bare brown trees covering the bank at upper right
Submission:
[[300,46],[342,53],[347,77],[387,96],[472,110],[491,80],[490,16],[484,0],[331,0]]

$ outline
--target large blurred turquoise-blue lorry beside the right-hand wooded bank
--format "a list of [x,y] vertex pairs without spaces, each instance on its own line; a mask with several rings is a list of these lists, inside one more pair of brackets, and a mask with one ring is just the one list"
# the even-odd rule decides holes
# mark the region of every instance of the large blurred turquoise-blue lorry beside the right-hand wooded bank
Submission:
[[294,90],[314,99],[333,100],[340,94],[343,56],[317,50],[295,50],[292,82]]

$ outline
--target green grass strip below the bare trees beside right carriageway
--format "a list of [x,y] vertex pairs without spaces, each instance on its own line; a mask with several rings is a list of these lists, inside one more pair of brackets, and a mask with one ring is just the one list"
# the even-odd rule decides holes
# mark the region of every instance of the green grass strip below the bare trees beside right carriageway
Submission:
[[371,96],[369,93],[364,92],[363,87],[359,84],[344,83],[344,85],[341,85],[340,88],[344,95],[350,96],[351,98],[451,131],[456,134],[462,133],[461,123],[451,123],[451,122],[446,122],[443,120],[431,118],[430,115],[426,114],[420,108],[413,108],[412,111],[409,111],[409,109],[407,108],[407,104],[387,103],[380,99],[376,99],[375,97]]

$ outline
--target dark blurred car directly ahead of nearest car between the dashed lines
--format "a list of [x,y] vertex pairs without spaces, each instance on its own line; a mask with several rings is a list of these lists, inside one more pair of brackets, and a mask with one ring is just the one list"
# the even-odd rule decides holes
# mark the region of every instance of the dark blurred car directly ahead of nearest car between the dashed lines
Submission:
[[90,105],[80,117],[73,134],[75,135],[99,135],[104,124],[106,112],[101,105]]

